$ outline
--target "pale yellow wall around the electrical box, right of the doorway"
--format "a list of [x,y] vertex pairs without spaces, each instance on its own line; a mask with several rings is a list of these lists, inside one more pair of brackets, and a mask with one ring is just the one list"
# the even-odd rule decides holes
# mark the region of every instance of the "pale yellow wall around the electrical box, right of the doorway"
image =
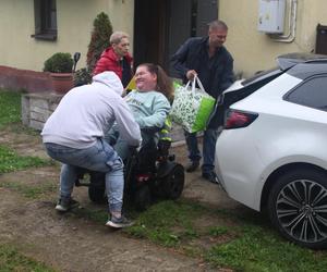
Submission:
[[316,26],[327,24],[325,7],[326,0],[298,0],[295,39],[286,44],[257,30],[258,0],[220,0],[219,18],[229,26],[226,46],[234,58],[235,71],[249,76],[276,65],[279,54],[314,51]]

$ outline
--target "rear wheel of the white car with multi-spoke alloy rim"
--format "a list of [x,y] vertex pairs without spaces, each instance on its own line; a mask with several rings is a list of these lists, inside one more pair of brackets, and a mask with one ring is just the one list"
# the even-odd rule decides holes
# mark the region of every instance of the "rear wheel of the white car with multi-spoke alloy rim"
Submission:
[[288,239],[310,248],[327,246],[327,175],[316,170],[280,176],[269,194],[272,224]]

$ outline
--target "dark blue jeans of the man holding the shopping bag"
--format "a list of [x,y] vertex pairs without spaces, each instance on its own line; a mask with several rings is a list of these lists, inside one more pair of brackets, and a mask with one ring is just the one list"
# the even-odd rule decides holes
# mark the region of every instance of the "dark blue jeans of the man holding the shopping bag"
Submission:
[[[216,141],[221,132],[221,128],[208,128],[204,131],[203,136],[203,164],[202,172],[209,173],[215,169]],[[184,132],[186,146],[189,149],[189,159],[191,161],[199,161],[201,152],[197,146],[196,133]]]

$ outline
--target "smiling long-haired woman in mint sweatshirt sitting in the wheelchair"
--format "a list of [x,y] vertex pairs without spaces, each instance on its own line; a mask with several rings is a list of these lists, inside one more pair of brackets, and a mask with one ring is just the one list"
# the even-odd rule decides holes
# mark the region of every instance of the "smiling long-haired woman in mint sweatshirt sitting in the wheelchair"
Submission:
[[[124,99],[140,125],[142,147],[156,147],[159,132],[165,127],[171,108],[172,82],[159,65],[143,63],[136,69],[135,83],[136,89],[130,91]],[[114,126],[106,139],[123,161],[131,156],[131,147],[119,136]]]

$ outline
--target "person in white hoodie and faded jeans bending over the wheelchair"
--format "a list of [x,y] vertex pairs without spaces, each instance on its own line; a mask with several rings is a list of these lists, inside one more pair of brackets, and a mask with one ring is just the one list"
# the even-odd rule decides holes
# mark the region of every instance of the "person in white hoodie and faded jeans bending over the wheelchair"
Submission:
[[138,124],[122,99],[123,86],[113,72],[93,77],[90,85],[71,89],[47,120],[41,132],[47,153],[62,162],[60,195],[56,210],[68,211],[76,201],[71,197],[76,168],[106,173],[109,220],[112,227],[131,225],[122,214],[123,162],[114,149],[104,140],[113,123],[131,146],[142,141]]

